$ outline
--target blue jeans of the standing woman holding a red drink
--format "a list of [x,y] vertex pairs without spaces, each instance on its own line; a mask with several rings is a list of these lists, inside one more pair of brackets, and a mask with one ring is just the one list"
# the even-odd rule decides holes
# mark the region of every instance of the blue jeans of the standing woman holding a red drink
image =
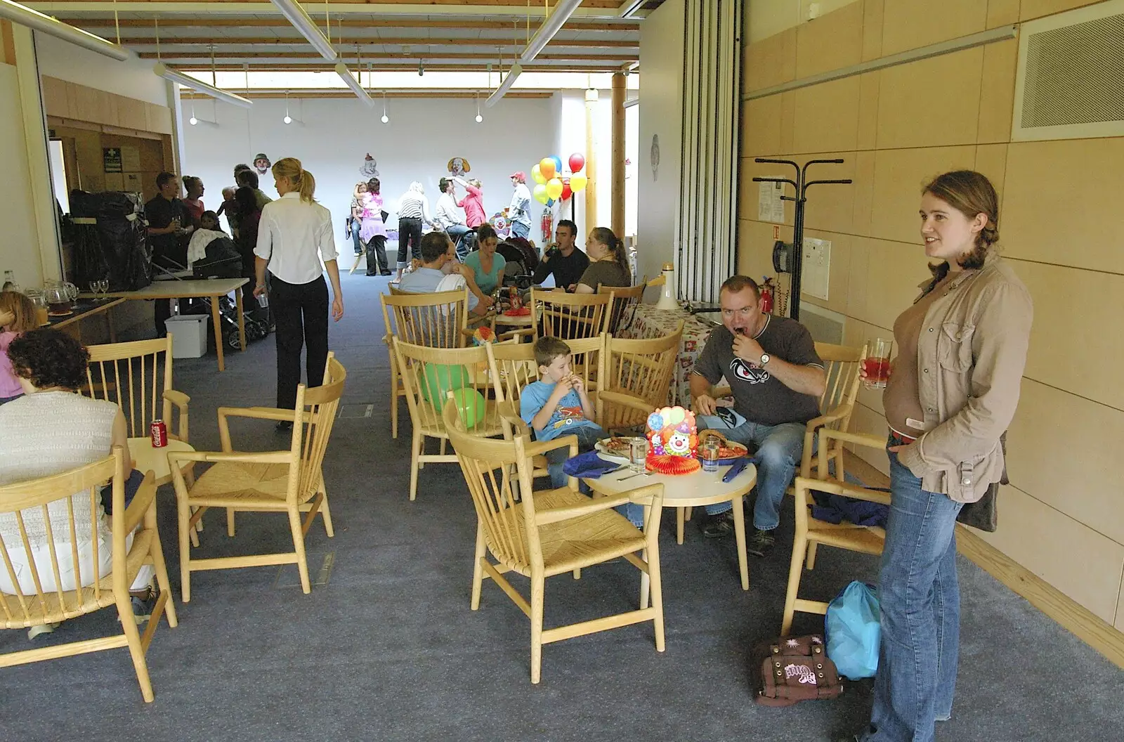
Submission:
[[[900,441],[890,438],[890,444]],[[890,517],[878,574],[882,639],[867,742],[930,742],[952,715],[960,650],[957,515],[890,453]]]

